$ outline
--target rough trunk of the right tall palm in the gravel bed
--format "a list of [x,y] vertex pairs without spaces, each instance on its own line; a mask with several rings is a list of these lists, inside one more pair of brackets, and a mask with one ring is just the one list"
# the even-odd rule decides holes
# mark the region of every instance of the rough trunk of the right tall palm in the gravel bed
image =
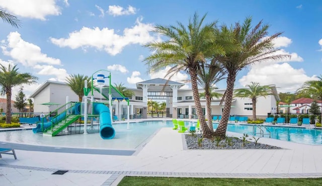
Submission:
[[228,124],[228,119],[230,115],[230,107],[231,107],[233,86],[235,83],[235,79],[236,79],[236,76],[234,74],[228,74],[227,81],[226,81],[227,82],[226,97],[224,100],[225,107],[223,109],[223,113],[222,113],[219,125],[216,131],[214,132],[214,135],[220,138],[226,137],[226,130],[227,130],[227,124]]

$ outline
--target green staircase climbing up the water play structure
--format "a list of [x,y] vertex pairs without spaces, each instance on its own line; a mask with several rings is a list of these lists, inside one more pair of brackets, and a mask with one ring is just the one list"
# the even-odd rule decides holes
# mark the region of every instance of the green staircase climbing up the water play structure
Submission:
[[59,132],[64,130],[67,126],[77,121],[81,115],[67,115],[61,121],[53,124],[50,129],[48,129],[44,134],[50,136],[56,136]]

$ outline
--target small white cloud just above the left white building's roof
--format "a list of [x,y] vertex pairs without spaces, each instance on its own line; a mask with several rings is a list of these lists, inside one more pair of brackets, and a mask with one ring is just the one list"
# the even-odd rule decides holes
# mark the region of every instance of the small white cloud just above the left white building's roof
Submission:
[[68,77],[67,71],[63,68],[55,68],[52,65],[35,65],[34,68],[40,69],[37,73],[39,75],[54,75],[56,76],[54,79],[56,81],[66,81],[66,77]]

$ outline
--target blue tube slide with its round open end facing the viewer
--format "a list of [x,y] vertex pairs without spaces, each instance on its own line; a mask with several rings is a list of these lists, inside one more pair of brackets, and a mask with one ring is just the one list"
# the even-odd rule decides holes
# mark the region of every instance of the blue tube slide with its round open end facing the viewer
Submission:
[[115,130],[112,126],[110,110],[104,104],[95,103],[94,113],[100,115],[100,135],[103,139],[113,139]]

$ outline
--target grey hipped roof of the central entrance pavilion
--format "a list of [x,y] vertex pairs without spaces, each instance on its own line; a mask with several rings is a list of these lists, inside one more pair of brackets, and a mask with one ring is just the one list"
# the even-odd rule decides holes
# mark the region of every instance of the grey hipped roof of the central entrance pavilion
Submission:
[[163,78],[149,79],[136,83],[137,88],[142,88],[142,85],[149,85],[149,91],[172,91],[171,85],[178,85],[179,88],[185,85],[184,83],[171,81]]

